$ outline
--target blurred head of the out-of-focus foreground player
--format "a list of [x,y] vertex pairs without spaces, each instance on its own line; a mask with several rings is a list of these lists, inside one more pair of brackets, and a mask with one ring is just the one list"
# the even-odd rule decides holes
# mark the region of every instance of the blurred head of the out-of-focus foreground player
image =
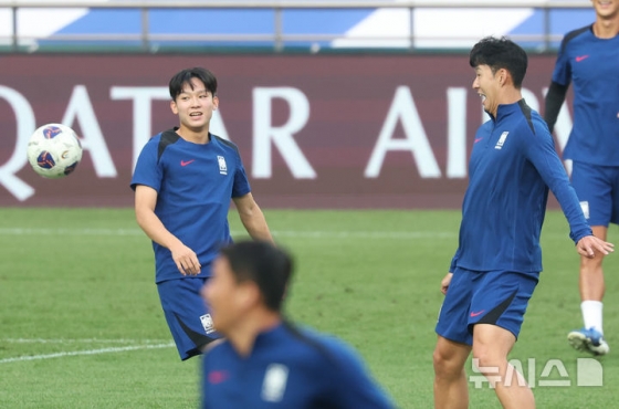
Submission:
[[241,241],[221,250],[202,296],[222,334],[251,312],[279,314],[293,270],[292,258],[262,241]]

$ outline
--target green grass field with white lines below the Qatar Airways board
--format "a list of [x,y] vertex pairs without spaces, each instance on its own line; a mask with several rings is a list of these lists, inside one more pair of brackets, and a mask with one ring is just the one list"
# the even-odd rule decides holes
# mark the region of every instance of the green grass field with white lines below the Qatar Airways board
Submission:
[[[439,285],[460,213],[265,213],[297,260],[288,315],[355,346],[400,408],[431,408]],[[199,361],[181,363],[171,346],[133,210],[11,208],[0,220],[0,408],[197,407]],[[234,212],[230,222],[244,237]],[[609,239],[619,241],[617,230]],[[566,342],[581,326],[578,255],[559,212],[547,216],[543,249],[545,271],[511,358],[525,364],[539,408],[616,407],[619,254],[606,261],[604,386],[583,387],[577,358],[588,356]],[[552,359],[566,373],[550,366],[546,377]],[[487,386],[470,386],[471,408],[500,408]]]

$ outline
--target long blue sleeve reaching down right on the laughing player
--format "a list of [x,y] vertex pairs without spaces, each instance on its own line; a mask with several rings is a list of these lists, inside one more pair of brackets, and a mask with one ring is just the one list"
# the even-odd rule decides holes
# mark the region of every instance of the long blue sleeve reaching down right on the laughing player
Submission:
[[577,243],[584,237],[591,235],[591,228],[585,219],[576,191],[555,150],[552,135],[543,126],[536,126],[535,134],[528,132],[526,135],[527,137],[523,140],[525,155],[557,198],[569,223],[569,237]]

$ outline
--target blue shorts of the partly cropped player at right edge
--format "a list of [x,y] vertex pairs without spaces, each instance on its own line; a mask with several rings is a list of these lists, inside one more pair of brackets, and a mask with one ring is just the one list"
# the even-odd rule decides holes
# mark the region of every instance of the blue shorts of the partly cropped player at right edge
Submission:
[[574,161],[571,186],[589,226],[619,224],[619,166]]

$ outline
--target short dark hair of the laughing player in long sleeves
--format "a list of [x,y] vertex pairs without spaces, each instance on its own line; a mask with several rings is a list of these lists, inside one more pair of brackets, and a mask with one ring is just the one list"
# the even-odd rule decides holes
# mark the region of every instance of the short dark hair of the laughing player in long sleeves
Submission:
[[505,69],[512,75],[514,86],[521,88],[528,57],[526,52],[512,40],[504,36],[501,39],[486,36],[473,45],[469,63],[473,69],[479,65],[487,65],[493,73]]

